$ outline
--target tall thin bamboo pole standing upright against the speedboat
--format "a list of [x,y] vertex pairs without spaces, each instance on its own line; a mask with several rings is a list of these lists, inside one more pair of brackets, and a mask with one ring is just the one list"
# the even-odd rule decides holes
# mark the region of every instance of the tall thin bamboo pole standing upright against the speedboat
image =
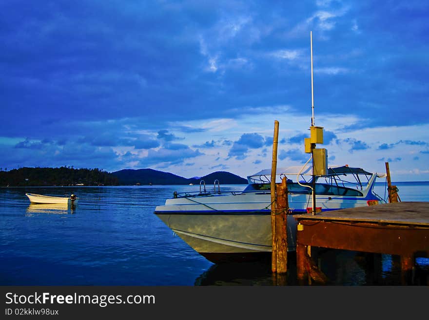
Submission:
[[273,161],[271,164],[271,238],[272,238],[272,256],[271,271],[277,272],[277,237],[275,221],[275,175],[277,170],[277,144],[278,144],[278,121],[274,121],[273,137]]

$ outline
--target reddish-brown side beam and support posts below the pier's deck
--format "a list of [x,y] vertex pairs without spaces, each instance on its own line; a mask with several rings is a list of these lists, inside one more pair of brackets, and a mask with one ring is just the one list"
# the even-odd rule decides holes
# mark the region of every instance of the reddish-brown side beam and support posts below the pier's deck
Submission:
[[[389,225],[378,222],[326,221],[323,218],[298,218],[298,222],[296,240],[298,279],[304,279],[305,273],[311,274],[314,271],[307,253],[309,245],[398,255],[401,257],[403,284],[413,282],[414,253],[429,254],[428,227]],[[313,272],[313,276],[317,277],[317,274]]]

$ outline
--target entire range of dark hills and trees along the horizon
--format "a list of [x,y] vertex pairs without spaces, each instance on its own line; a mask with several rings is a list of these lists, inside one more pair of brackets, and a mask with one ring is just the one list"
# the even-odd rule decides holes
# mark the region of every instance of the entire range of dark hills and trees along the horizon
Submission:
[[117,185],[221,185],[246,184],[247,180],[233,173],[217,171],[200,178],[184,178],[154,169],[123,169],[107,172],[101,169],[20,168],[9,171],[0,169],[0,187],[25,186],[117,186]]

